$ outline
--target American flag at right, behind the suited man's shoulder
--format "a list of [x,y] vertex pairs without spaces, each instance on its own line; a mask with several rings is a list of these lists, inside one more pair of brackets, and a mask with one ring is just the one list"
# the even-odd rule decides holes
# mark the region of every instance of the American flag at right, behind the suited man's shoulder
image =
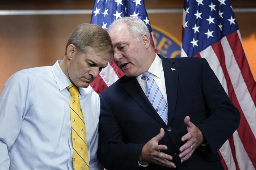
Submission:
[[225,170],[255,170],[256,83],[230,0],[185,0],[182,24],[181,57],[206,58],[241,114],[238,129],[219,151],[222,164]]

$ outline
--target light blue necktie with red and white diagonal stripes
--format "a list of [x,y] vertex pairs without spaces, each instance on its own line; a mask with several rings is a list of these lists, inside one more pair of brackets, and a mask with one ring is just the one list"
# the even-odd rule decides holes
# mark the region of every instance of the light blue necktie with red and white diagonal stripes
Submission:
[[147,81],[146,85],[146,95],[152,106],[156,109],[156,112],[163,119],[165,124],[168,121],[168,107],[162,92],[159,90],[156,82],[153,78],[150,77],[150,72],[144,72],[142,74],[142,79]]

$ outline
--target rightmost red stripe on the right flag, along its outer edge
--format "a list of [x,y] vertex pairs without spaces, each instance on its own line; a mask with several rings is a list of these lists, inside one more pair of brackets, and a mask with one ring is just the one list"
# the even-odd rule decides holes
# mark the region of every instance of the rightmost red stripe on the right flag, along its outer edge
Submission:
[[238,33],[233,32],[232,34],[227,35],[227,40],[235,56],[235,60],[238,64],[238,67],[241,70],[241,74],[244,78],[244,82],[247,86],[247,89],[251,95],[251,98],[254,101],[254,105],[256,106],[256,83],[253,79],[252,72],[250,71],[250,66],[244,54],[244,50]]

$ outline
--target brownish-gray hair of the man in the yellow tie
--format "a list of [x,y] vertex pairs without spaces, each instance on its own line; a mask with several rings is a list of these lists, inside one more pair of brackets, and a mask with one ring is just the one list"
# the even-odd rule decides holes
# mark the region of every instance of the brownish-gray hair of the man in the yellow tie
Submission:
[[70,44],[73,44],[76,47],[78,53],[86,53],[86,47],[90,46],[93,49],[109,52],[111,57],[114,55],[114,49],[109,33],[100,26],[94,24],[79,24],[68,39],[66,51]]

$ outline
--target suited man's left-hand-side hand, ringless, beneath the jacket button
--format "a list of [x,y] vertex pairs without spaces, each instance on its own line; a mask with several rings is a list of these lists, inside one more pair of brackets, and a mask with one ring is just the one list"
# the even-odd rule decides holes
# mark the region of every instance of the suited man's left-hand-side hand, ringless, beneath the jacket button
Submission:
[[164,167],[175,168],[175,164],[171,162],[172,156],[162,153],[161,150],[167,150],[167,146],[159,145],[158,142],[164,137],[165,131],[163,128],[160,129],[160,133],[150,139],[141,150],[141,156],[139,162],[147,161],[154,164],[159,164]]

